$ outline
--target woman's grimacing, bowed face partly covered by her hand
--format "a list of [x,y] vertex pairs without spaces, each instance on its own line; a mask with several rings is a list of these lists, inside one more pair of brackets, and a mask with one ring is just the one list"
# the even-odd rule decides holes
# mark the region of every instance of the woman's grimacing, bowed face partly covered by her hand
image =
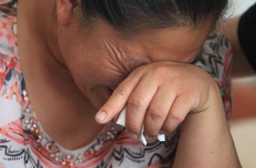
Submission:
[[59,26],[62,59],[80,91],[99,109],[135,68],[157,61],[191,62],[202,50],[212,22],[190,27],[145,29],[124,35],[99,22],[90,30],[79,22]]

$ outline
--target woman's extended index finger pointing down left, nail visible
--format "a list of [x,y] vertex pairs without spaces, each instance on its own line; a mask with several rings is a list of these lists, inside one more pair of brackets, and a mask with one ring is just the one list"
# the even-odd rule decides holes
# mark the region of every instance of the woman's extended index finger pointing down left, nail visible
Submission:
[[139,82],[141,74],[139,71],[133,71],[130,76],[124,79],[114,90],[111,97],[99,110],[95,120],[100,124],[105,124],[113,119],[125,106],[134,87]]

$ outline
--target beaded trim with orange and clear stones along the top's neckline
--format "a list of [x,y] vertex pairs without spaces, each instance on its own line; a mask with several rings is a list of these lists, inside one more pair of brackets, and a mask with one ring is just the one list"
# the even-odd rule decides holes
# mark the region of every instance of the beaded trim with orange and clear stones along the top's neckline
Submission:
[[118,131],[114,125],[109,124],[106,126],[102,134],[91,143],[91,145],[89,144],[88,146],[82,148],[82,150],[79,150],[80,152],[76,152],[77,150],[74,152],[66,152],[65,149],[62,149],[60,145],[55,143],[46,133],[44,133],[40,122],[35,118],[34,110],[25,90],[23,90],[22,96],[24,99],[24,106],[22,109],[21,120],[23,123],[24,132],[33,135],[38,146],[38,152],[46,150],[51,158],[62,165],[73,166],[75,164],[85,162],[85,155],[94,154],[96,151],[99,151],[105,142],[114,140],[118,134]]

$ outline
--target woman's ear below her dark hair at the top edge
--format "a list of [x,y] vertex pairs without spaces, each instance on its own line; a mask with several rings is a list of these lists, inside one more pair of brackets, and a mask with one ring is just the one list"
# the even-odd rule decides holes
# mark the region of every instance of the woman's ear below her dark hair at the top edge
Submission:
[[77,6],[76,0],[57,0],[57,20],[60,25],[66,26],[70,21],[73,9]]

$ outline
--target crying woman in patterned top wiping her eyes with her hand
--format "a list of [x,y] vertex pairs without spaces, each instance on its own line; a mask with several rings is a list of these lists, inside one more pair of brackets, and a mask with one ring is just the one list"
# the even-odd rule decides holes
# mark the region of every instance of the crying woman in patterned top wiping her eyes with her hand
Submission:
[[227,40],[195,60],[227,1],[1,3],[2,167],[240,167]]

